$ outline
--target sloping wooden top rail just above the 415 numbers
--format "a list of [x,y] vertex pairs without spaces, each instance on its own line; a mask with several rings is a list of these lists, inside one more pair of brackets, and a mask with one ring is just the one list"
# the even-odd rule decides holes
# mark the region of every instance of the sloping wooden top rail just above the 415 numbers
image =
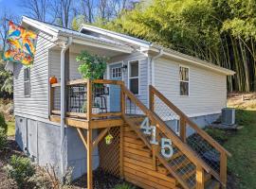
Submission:
[[192,151],[191,147],[183,143],[172,130],[168,129],[164,121],[162,121],[154,112],[151,112],[144,104],[142,104],[135,94],[131,93],[125,86],[123,86],[123,92],[137,105],[142,112],[144,112],[151,121],[156,123],[156,127],[161,130],[167,137],[171,138],[175,146],[177,146],[184,154],[187,155],[188,159],[194,164],[200,164],[206,172],[210,173],[212,169],[210,166],[201,160],[200,157]]

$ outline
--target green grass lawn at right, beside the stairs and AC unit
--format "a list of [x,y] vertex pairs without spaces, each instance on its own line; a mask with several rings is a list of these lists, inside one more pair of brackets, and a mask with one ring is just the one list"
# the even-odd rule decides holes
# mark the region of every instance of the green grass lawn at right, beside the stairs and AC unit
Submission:
[[224,131],[207,129],[232,157],[228,160],[228,171],[235,182],[232,188],[252,189],[256,186],[256,111],[237,110],[236,121],[243,129]]

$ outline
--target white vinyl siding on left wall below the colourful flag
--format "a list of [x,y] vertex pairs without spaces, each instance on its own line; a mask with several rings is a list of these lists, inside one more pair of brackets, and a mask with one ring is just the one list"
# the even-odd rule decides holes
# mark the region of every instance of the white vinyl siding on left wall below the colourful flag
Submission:
[[[44,36],[44,37],[42,37]],[[48,48],[53,45],[49,36],[40,32],[33,65],[30,66],[30,97],[24,95],[24,69],[14,63],[14,113],[48,119]]]

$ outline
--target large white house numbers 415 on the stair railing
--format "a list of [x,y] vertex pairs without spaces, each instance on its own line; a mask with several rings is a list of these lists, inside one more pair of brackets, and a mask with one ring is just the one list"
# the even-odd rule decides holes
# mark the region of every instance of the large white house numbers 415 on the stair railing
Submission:
[[[143,133],[146,135],[151,135],[151,141],[150,143],[152,145],[158,145],[158,142],[156,141],[156,130],[155,126],[150,126],[149,124],[149,118],[146,117],[143,122],[140,125],[140,129],[143,130]],[[163,157],[169,159],[174,154],[174,148],[172,146],[171,139],[167,138],[161,138],[161,154]]]

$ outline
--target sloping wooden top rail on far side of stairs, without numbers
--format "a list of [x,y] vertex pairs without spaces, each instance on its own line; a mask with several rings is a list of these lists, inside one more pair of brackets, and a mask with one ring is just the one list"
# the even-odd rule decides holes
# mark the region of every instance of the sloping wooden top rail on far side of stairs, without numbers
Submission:
[[168,100],[163,94],[158,92],[155,87],[150,85],[151,92],[157,95],[169,108],[171,108],[176,114],[180,117],[183,117],[185,121],[192,127],[192,129],[196,130],[197,133],[202,136],[205,140],[207,140],[211,146],[217,148],[220,152],[225,152],[229,157],[231,154],[227,149],[221,146],[218,142],[216,142],[206,131],[200,129],[192,120],[183,112],[181,112],[170,100]]

